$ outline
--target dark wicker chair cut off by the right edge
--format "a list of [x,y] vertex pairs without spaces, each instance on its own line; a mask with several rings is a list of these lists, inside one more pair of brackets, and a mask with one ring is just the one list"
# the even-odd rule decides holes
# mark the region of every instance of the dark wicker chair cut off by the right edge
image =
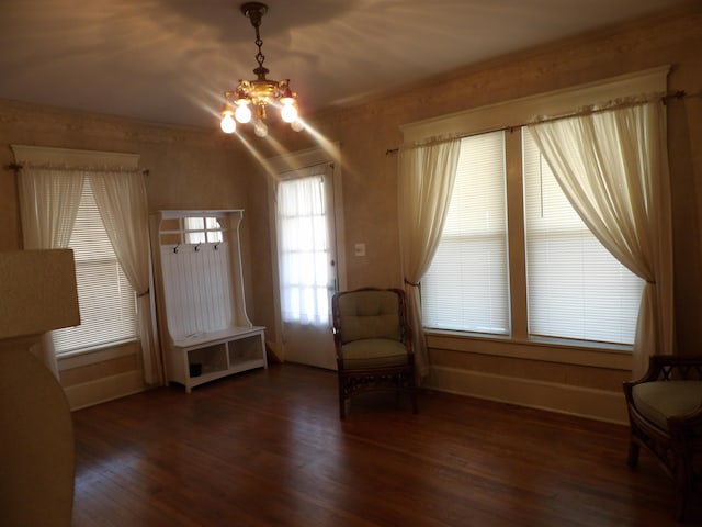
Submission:
[[[624,383],[629,464],[644,447],[676,485],[676,518],[689,519],[702,482],[702,356],[654,356],[646,374]],[[693,496],[697,495],[697,500]]]

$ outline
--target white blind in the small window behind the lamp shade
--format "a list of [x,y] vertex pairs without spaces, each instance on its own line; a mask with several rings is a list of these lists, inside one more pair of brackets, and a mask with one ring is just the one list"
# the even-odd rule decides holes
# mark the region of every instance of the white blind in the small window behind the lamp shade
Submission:
[[76,259],[80,326],[53,332],[57,354],[136,339],[136,298],[86,179],[69,247]]

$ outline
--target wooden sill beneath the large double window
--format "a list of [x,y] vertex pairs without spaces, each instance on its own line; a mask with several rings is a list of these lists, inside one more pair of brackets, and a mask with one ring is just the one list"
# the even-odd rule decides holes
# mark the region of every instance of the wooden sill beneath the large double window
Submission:
[[433,349],[623,371],[632,369],[631,347],[543,337],[519,340],[509,336],[440,329],[424,329],[424,334],[427,346]]

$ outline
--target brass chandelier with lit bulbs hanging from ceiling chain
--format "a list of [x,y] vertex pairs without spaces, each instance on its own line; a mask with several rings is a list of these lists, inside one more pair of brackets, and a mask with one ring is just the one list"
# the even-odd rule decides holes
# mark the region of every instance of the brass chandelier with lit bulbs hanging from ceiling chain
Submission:
[[[253,121],[253,132],[259,137],[268,135],[265,125],[265,109],[269,104],[281,109],[281,119],[291,123],[295,132],[304,128],[297,119],[297,93],[290,89],[290,79],[269,80],[265,78],[269,70],[263,66],[265,56],[261,52],[263,41],[259,34],[261,19],[268,12],[268,5],[259,2],[246,2],[241,4],[241,13],[251,21],[256,30],[256,45],[259,52],[256,54],[258,68],[253,70],[254,80],[240,80],[235,90],[224,92],[224,109],[222,110],[222,131],[231,134],[237,130],[237,121],[241,124]],[[252,111],[253,110],[253,111]]]

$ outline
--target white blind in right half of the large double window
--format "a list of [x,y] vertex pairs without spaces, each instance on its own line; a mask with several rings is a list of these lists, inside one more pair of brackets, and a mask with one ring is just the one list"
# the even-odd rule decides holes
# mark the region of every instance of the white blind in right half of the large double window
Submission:
[[529,332],[634,343],[643,280],[585,226],[523,128]]

